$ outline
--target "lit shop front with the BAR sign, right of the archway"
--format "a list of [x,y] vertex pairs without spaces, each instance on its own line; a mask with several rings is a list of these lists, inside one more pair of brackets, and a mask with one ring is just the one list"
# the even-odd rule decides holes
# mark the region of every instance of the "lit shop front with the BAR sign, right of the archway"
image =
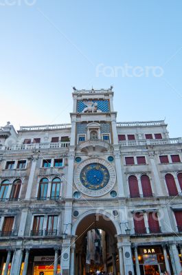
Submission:
[[138,247],[137,253],[141,275],[159,275],[166,269],[163,250],[160,246]]

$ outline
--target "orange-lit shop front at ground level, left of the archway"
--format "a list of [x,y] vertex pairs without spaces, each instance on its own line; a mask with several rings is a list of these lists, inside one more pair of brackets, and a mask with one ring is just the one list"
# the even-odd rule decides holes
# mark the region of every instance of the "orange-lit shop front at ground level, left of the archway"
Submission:
[[[54,256],[35,256],[34,275],[54,275]],[[60,274],[58,265],[57,274]]]

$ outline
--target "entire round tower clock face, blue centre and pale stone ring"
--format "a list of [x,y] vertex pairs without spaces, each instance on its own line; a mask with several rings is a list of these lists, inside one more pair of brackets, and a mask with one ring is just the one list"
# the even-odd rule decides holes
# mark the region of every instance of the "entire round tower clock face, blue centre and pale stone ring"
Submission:
[[104,159],[87,159],[78,164],[74,182],[82,193],[100,197],[109,192],[115,184],[115,169]]

